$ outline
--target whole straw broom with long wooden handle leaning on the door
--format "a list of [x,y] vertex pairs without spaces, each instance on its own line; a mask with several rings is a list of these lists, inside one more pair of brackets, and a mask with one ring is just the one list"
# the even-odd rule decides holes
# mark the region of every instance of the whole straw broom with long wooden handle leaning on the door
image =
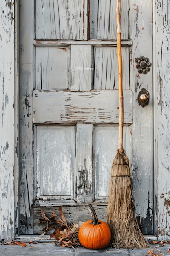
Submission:
[[116,156],[111,168],[109,185],[108,210],[106,221],[111,229],[113,247],[116,248],[147,248],[138,222],[132,197],[129,160],[123,149],[123,89],[122,89],[122,57],[121,57],[121,23],[120,5],[117,0],[117,58],[119,85],[119,141]]

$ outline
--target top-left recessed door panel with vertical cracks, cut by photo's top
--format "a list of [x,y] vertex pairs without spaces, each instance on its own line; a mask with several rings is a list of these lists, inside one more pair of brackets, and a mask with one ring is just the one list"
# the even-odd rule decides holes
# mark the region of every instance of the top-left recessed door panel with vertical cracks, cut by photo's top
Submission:
[[83,2],[36,0],[36,38],[84,39]]

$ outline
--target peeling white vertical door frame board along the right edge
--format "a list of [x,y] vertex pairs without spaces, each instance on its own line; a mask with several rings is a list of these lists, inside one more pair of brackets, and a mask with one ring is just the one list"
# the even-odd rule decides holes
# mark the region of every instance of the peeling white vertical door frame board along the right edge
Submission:
[[[156,11],[156,10],[155,10]],[[170,0],[157,1],[157,89],[155,90],[155,148],[158,157],[158,239],[170,240]]]

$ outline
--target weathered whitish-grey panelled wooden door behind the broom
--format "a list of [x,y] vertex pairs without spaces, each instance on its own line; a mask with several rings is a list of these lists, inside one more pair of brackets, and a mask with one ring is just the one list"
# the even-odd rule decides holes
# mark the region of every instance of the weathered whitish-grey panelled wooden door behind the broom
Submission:
[[[118,145],[115,0],[20,0],[20,234],[40,234],[41,209],[69,222],[105,220]],[[124,148],[136,214],[153,234],[152,0],[122,0]],[[139,91],[150,94],[142,108]]]

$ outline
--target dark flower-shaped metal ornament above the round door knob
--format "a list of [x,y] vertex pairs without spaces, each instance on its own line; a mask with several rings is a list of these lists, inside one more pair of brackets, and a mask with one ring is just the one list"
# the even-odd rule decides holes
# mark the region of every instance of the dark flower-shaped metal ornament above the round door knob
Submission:
[[136,68],[139,74],[147,74],[150,71],[152,63],[149,62],[149,58],[140,56],[139,58],[135,58],[135,62],[137,63]]

